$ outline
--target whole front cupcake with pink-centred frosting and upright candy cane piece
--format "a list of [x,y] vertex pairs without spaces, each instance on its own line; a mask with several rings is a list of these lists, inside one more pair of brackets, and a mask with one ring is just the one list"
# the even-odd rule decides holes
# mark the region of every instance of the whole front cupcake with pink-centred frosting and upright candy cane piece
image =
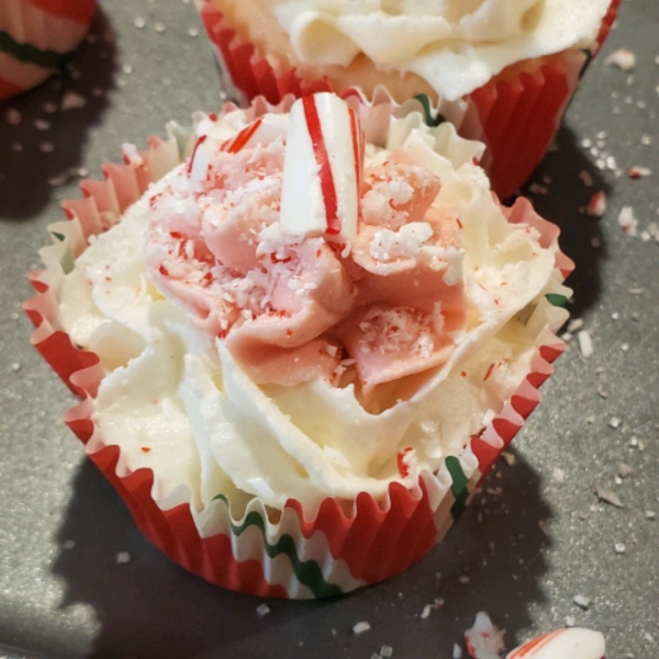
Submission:
[[225,588],[322,597],[424,556],[563,344],[558,228],[421,105],[226,104],[85,181],[25,303],[142,532]]

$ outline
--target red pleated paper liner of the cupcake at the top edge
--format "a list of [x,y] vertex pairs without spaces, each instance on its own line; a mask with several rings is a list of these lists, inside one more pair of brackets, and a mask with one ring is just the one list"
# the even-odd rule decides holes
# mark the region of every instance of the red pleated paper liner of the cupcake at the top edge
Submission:
[[[549,148],[579,80],[606,38],[621,0],[613,0],[594,52],[572,48],[507,67],[460,101],[417,98],[429,122],[450,121],[463,137],[487,145],[483,167],[500,199],[506,199],[530,177]],[[230,98],[245,103],[264,96],[278,103],[286,94],[315,91],[345,96],[350,88],[333,88],[327,79],[304,79],[241,40],[214,0],[197,0],[202,22],[217,60],[221,85]]]

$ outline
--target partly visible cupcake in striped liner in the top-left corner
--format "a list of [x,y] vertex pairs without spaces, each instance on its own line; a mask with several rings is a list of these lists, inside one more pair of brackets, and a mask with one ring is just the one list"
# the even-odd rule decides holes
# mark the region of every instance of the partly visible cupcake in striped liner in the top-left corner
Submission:
[[60,70],[82,41],[96,0],[3,0],[0,3],[0,101]]

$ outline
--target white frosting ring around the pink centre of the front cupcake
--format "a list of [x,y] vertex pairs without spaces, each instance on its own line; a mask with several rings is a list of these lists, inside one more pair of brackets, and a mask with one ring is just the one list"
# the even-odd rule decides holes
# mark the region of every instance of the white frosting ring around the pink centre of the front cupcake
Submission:
[[[447,287],[463,286],[467,322],[451,334],[443,364],[380,386],[375,398],[345,378],[256,383],[226,340],[191,322],[186,300],[154,277],[146,263],[154,209],[172,190],[183,199],[196,190],[194,167],[183,165],[153,186],[66,276],[59,326],[97,353],[107,372],[93,420],[105,444],[121,446],[127,467],[154,470],[156,500],[181,484],[198,511],[219,494],[234,504],[258,496],[279,510],[293,498],[310,514],[326,496],[380,499],[392,481],[413,487],[422,471],[435,472],[447,455],[458,455],[529,372],[545,322],[534,310],[560,280],[556,247],[540,247],[535,230],[505,221],[472,163],[482,145],[457,137],[450,124],[391,121],[388,150],[367,145],[366,164],[400,148],[439,177],[436,201],[461,226],[459,247],[442,253],[442,267]],[[235,111],[197,130],[223,141],[244,126],[244,113]],[[181,202],[177,213],[189,221],[194,211]],[[370,249],[387,247],[394,261],[428,249],[428,227],[407,226],[398,243],[386,234]],[[344,361],[342,369],[354,368]]]

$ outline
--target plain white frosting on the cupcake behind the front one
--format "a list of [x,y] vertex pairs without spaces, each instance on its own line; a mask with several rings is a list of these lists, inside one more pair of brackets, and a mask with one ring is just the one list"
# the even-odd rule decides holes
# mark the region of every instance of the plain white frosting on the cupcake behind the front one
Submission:
[[267,0],[305,64],[411,71],[449,101],[522,59],[592,47],[610,0]]

